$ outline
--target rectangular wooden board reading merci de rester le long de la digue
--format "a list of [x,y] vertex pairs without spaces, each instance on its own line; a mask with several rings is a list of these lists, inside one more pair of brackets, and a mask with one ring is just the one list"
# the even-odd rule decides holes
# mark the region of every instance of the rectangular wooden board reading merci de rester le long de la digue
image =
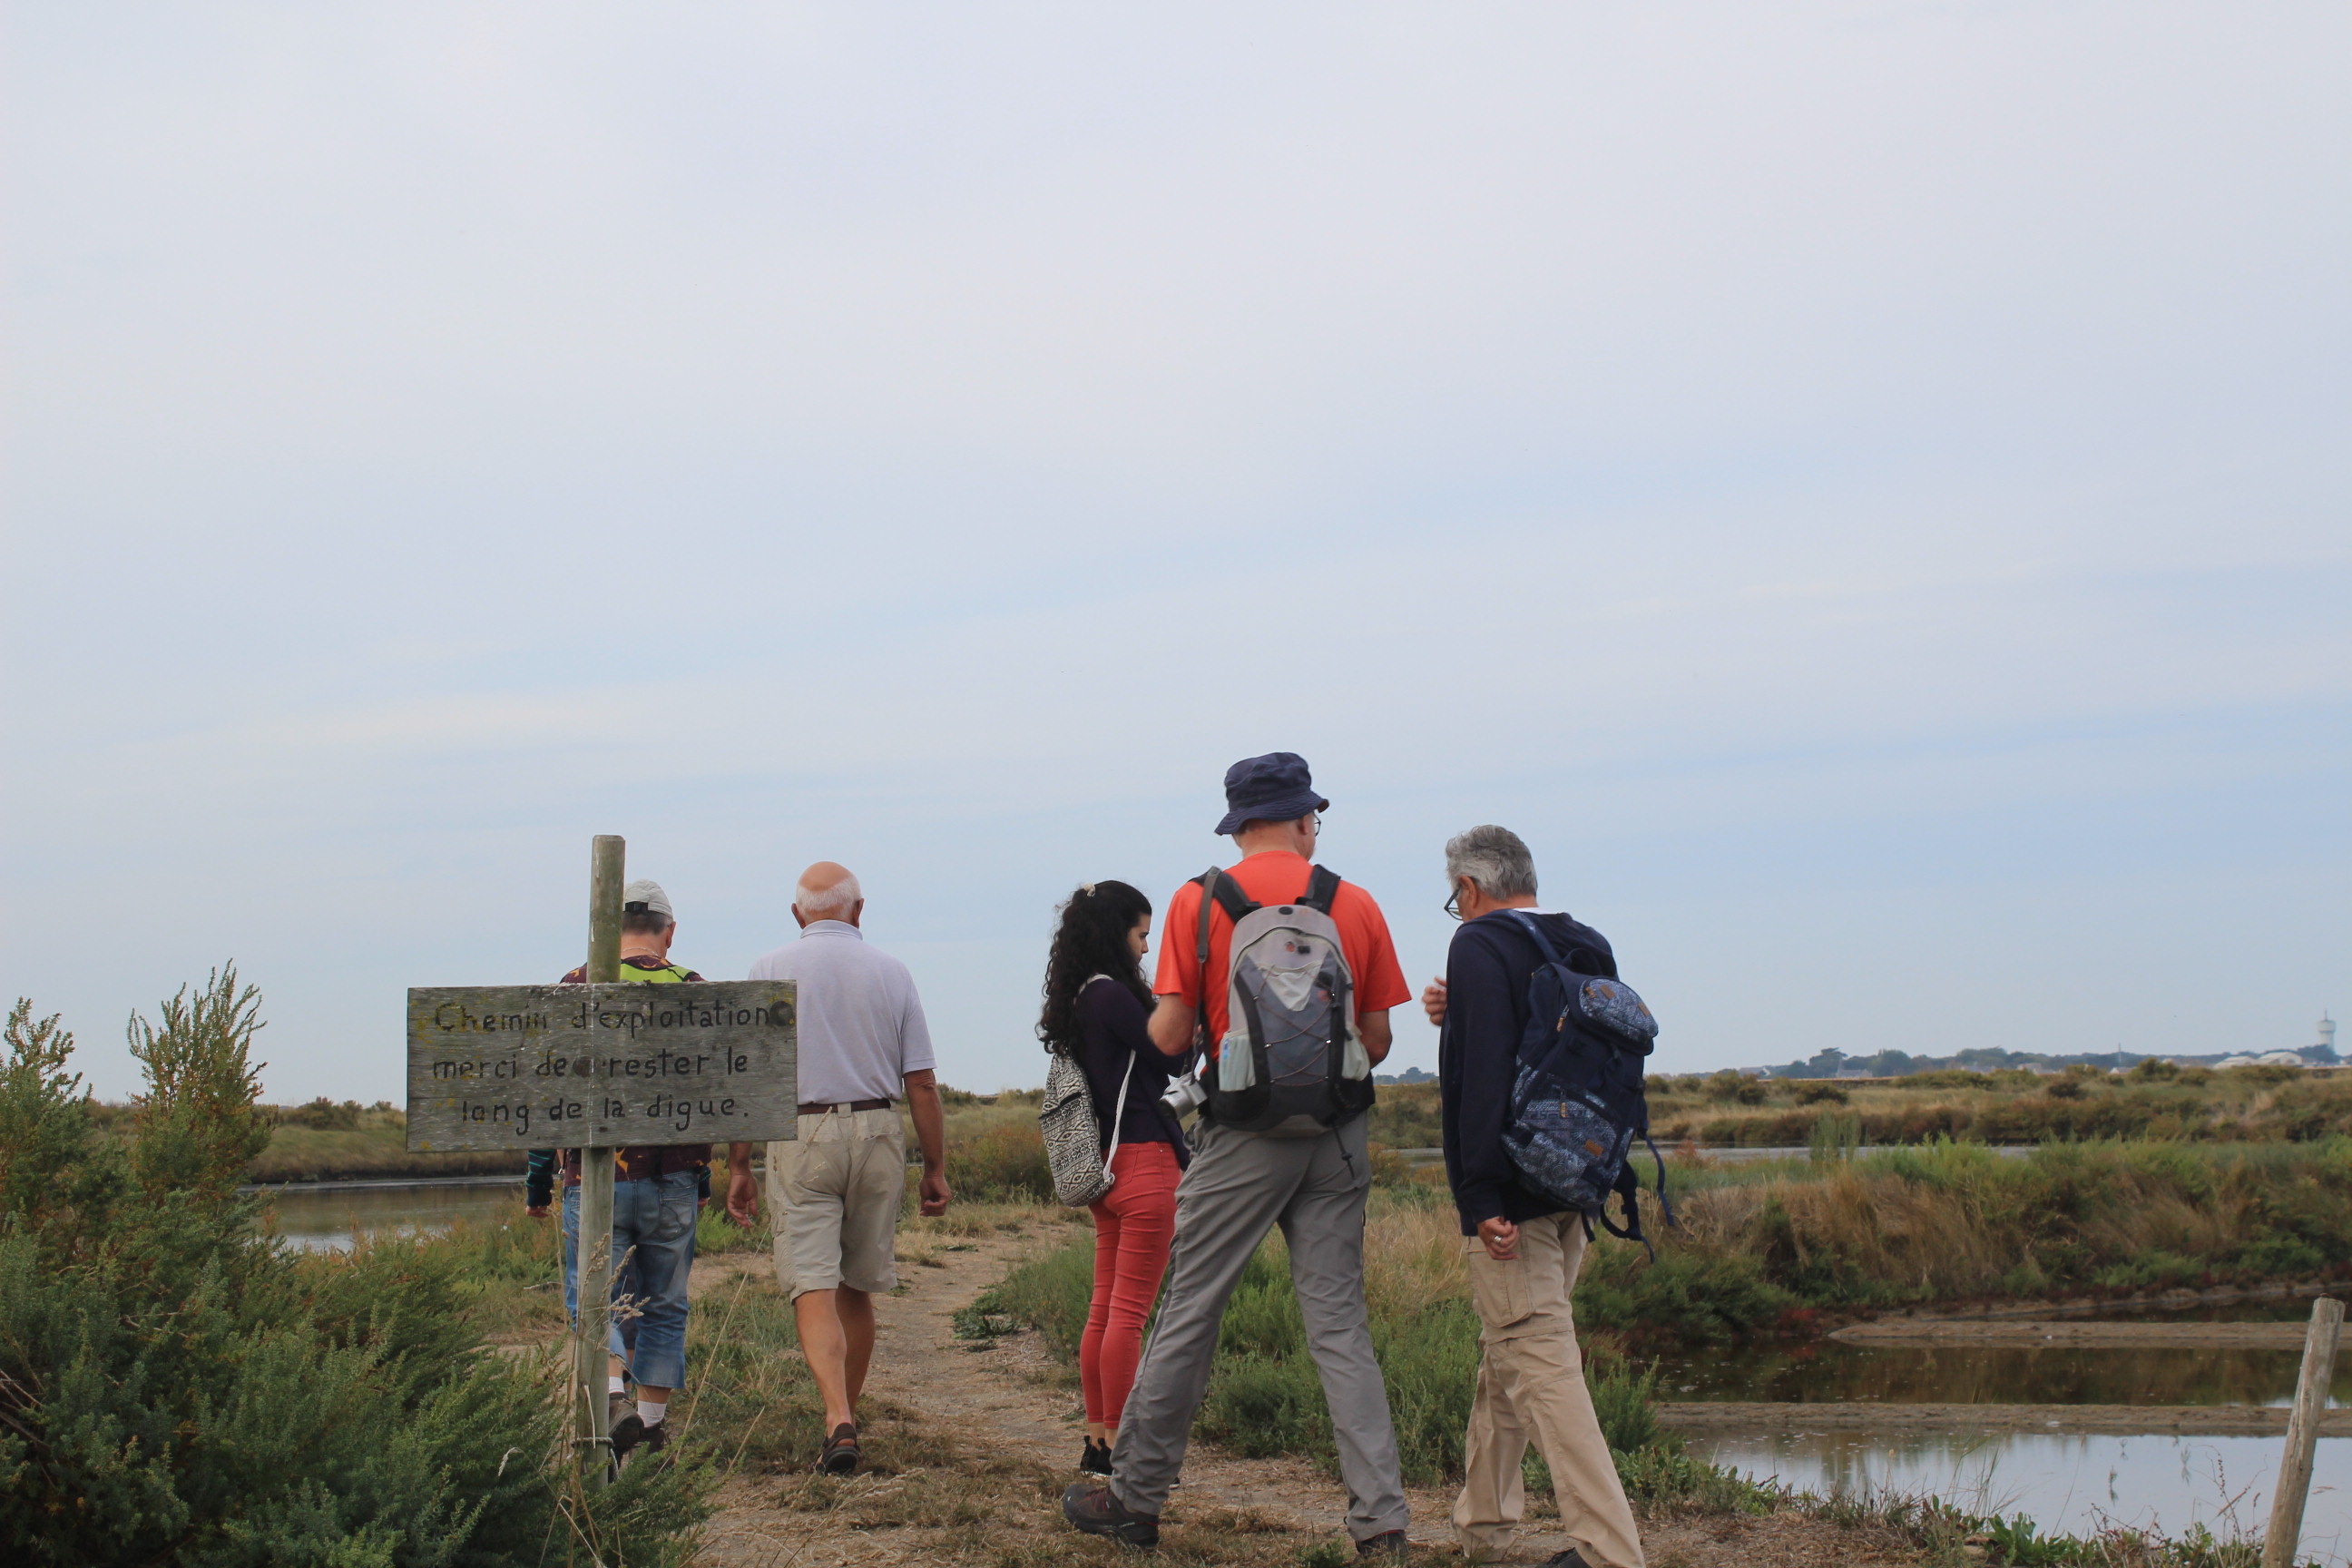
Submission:
[[795,1009],[790,980],[412,987],[409,1147],[793,1138]]

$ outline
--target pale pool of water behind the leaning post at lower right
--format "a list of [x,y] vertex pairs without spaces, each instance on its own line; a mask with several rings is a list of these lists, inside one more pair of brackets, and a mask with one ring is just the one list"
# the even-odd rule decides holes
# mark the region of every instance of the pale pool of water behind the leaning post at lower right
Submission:
[[[2260,1535],[2279,1474],[2270,1436],[1691,1436],[1691,1450],[1811,1493],[1931,1493],[1973,1514],[2025,1514],[2044,1533],[2136,1526]],[[2347,1561],[2352,1441],[2319,1443],[2296,1561]]]

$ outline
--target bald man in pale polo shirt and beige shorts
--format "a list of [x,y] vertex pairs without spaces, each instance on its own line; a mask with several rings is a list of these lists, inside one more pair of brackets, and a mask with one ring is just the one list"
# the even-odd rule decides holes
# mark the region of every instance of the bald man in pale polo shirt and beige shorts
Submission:
[[818,1467],[858,1467],[858,1392],[875,1354],[873,1298],[898,1286],[906,1095],[922,1145],[922,1211],[948,1208],[948,1138],[931,1030],[906,964],[868,945],[866,893],[847,865],[800,872],[800,940],[750,966],[800,985],[800,1140],[767,1145],[776,1284],[793,1295],[800,1354],[826,1401]]

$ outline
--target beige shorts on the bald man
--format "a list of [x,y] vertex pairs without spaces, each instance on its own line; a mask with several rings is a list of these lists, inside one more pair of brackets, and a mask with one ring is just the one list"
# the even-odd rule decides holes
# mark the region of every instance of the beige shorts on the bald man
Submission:
[[795,1143],[767,1145],[776,1284],[786,1295],[898,1288],[891,1248],[906,1204],[906,1126],[894,1110],[802,1117]]

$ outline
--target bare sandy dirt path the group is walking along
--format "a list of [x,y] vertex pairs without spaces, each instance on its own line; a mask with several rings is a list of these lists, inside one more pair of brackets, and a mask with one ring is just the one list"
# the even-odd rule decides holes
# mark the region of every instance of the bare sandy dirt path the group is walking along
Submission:
[[[927,1427],[953,1436],[967,1453],[985,1455],[993,1476],[957,1481],[985,1488],[988,1521],[960,1519],[938,1505],[906,1507],[903,1493],[924,1476],[854,1476],[847,1483],[802,1476],[739,1474],[720,1493],[720,1514],[703,1533],[696,1563],[706,1568],[783,1568],[797,1563],[974,1561],[990,1568],[1028,1563],[1117,1563],[1122,1549],[1089,1540],[1061,1523],[1061,1488],[1077,1479],[1082,1410],[1075,1380],[1035,1333],[971,1349],[955,1338],[953,1314],[995,1284],[1035,1239],[993,1237],[974,1251],[938,1253],[936,1267],[901,1267],[908,1286],[877,1302],[880,1338],[870,1394],[896,1401]],[[696,1265],[696,1295],[731,1288],[746,1272],[764,1272],[760,1255]],[[971,1467],[964,1467],[971,1474]],[[837,1488],[837,1490],[833,1490]],[[898,1505],[894,1507],[894,1495]],[[1411,1540],[1458,1561],[1449,1526],[1451,1493],[1411,1493]],[[1531,1500],[1534,1502],[1534,1500]],[[1550,1514],[1550,1500],[1531,1512]],[[1009,1514],[1009,1516],[1007,1516]],[[1235,1460],[1195,1446],[1183,1486],[1162,1521],[1162,1561],[1240,1563],[1289,1561],[1336,1544],[1345,1552],[1338,1481],[1305,1460]],[[915,1516],[920,1523],[906,1523]],[[1195,1526],[1188,1537],[1185,1526]],[[1564,1549],[1557,1516],[1531,1519],[1508,1561],[1541,1563]],[[1792,1514],[1663,1516],[1644,1521],[1653,1568],[1865,1568],[1912,1563],[1917,1549],[1891,1530],[1837,1526]]]

